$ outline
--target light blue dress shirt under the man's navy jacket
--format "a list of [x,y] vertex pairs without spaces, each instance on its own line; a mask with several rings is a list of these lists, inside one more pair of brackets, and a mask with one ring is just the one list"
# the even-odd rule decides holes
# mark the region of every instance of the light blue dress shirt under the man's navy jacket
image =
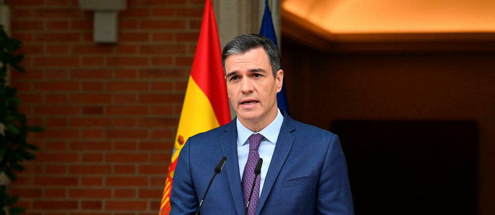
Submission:
[[[259,174],[261,176],[261,181],[259,183],[259,195],[261,195],[264,179],[266,177],[266,173],[268,172],[270,162],[272,161],[273,152],[275,151],[275,144],[279,138],[280,128],[282,128],[282,123],[284,122],[284,116],[282,116],[280,110],[277,109],[277,111],[278,113],[275,120],[263,130],[257,132],[265,137],[261,140],[258,148],[259,157],[263,158],[263,165],[261,166],[261,173]],[[252,132],[242,125],[239,118],[237,118],[237,157],[239,158],[239,173],[241,174],[241,180],[249,155],[248,138],[254,133],[255,132]]]

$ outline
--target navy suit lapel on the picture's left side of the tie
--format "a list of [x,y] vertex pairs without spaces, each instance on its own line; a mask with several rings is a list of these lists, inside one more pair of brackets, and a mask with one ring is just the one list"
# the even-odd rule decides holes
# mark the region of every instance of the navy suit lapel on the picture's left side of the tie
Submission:
[[[222,152],[227,156],[226,172],[229,180],[232,199],[238,214],[244,214],[244,200],[242,197],[241,176],[239,175],[239,158],[237,156],[237,127],[236,120],[233,120],[225,129],[225,133],[220,137]],[[220,211],[219,211],[220,212]]]

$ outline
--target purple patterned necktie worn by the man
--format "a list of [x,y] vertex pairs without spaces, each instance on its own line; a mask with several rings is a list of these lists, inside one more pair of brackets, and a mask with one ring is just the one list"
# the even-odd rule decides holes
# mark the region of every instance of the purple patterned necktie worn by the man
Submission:
[[[263,139],[261,134],[252,134],[249,137],[249,156],[244,167],[244,173],[242,174],[242,190],[244,193],[244,206],[247,205],[249,200],[249,194],[251,193],[251,187],[253,186],[254,180],[254,168],[259,159],[259,143]],[[249,203],[248,214],[252,215],[256,212],[256,207],[258,206],[259,198],[259,182],[261,176],[256,177],[256,185],[254,186],[253,195],[251,196],[251,202]]]

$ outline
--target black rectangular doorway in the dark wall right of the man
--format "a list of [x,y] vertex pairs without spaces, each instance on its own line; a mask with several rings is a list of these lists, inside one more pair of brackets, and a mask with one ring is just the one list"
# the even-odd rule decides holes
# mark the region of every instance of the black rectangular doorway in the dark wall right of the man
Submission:
[[339,120],[356,214],[477,214],[472,121]]

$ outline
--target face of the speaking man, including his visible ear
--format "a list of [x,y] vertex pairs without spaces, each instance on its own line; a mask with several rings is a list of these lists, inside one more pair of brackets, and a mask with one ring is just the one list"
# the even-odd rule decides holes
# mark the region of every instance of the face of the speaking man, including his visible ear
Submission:
[[282,88],[284,72],[279,70],[274,78],[262,47],[227,57],[225,71],[227,92],[241,122],[275,119],[277,92]]

